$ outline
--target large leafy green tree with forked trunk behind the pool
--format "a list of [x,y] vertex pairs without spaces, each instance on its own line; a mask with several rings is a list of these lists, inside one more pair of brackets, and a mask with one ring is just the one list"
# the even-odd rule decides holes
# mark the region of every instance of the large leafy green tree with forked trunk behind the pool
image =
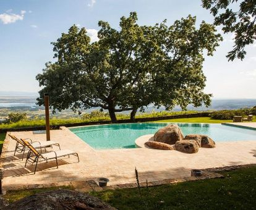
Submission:
[[51,96],[50,106],[59,111],[71,108],[108,109],[113,122],[115,112],[131,112],[149,104],[172,109],[186,109],[190,103],[210,104],[211,94],[203,93],[203,51],[213,54],[221,35],[213,25],[202,22],[195,27],[195,17],[166,25],[137,24],[137,14],[121,17],[120,29],[99,22],[99,41],[90,42],[85,28],[73,25],[53,43],[56,62],[48,62],[36,76],[40,86],[38,104],[43,94]]

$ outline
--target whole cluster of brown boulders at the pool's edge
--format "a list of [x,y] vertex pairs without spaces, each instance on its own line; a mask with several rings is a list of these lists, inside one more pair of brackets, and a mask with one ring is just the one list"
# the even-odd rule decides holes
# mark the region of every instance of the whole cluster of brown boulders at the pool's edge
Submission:
[[160,128],[155,133],[154,140],[147,141],[145,145],[153,149],[176,149],[182,153],[197,153],[200,147],[215,148],[215,141],[207,135],[199,134],[186,135],[184,138],[181,128],[171,124]]

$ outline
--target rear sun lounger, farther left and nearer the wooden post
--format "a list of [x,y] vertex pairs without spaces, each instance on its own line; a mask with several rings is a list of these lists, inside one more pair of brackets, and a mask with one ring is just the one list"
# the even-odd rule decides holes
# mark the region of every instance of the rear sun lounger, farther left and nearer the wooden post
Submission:
[[[22,155],[22,161],[23,161],[24,154],[25,154],[25,149],[26,149],[26,145],[23,143],[23,141],[19,140],[19,138],[17,138],[16,136],[11,135],[11,134],[8,134],[8,135],[9,135],[13,140],[17,141],[16,146],[15,146],[15,150],[14,150],[14,156],[15,156],[15,153],[16,153],[16,152],[17,152],[17,153],[23,153],[23,155]],[[23,138],[23,140],[29,140],[31,144],[32,144],[32,143],[39,143],[40,146],[39,146],[39,147],[36,147],[36,148],[40,148],[41,153],[42,153],[42,148],[44,148],[45,151],[46,151],[46,147],[51,146],[51,148],[53,148],[53,145],[54,145],[54,146],[58,146],[58,147],[59,147],[59,150],[61,150],[61,146],[59,146],[59,143],[55,143],[55,142],[54,142],[53,144],[51,144],[51,143],[49,142],[49,145],[41,147],[40,141],[32,141],[30,138]],[[20,145],[21,145],[21,146],[20,146]]]

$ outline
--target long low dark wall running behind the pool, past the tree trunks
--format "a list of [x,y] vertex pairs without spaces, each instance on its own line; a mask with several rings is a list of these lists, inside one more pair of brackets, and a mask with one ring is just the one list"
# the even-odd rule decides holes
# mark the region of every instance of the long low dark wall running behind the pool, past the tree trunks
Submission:
[[[198,112],[193,114],[177,114],[171,116],[163,116],[163,117],[148,117],[148,118],[139,118],[131,121],[127,120],[118,120],[118,123],[132,123],[132,122],[151,122],[151,121],[158,121],[158,120],[169,120],[169,119],[179,119],[179,118],[191,118],[191,117],[208,117],[212,112]],[[98,122],[80,122],[75,124],[62,124],[62,125],[51,125],[52,130],[59,129],[61,126],[65,127],[76,127],[76,126],[83,126],[83,125],[102,125],[102,124],[111,124],[111,121],[98,121]],[[28,130],[45,130],[45,126],[38,126],[38,127],[24,127],[24,128],[7,128],[7,129],[0,129],[0,133],[5,132],[19,132],[19,131],[28,131]]]

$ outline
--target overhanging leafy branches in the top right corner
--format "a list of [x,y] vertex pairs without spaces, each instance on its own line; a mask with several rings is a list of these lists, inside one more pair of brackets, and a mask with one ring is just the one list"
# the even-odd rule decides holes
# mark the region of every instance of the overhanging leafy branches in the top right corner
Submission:
[[[224,33],[234,33],[234,47],[228,52],[229,61],[236,57],[244,59],[245,46],[256,39],[256,1],[255,0],[202,0],[203,7],[210,9],[215,17],[215,25],[223,25]],[[233,9],[238,7],[239,10]]]

